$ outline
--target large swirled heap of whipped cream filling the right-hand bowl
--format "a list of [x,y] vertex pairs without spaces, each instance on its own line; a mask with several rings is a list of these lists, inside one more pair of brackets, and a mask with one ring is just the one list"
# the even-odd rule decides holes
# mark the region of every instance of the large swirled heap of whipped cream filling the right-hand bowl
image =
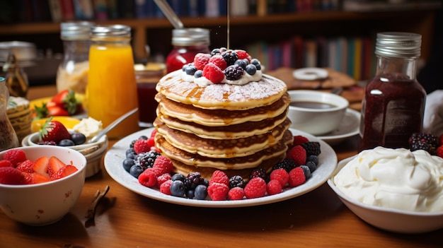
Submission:
[[443,211],[443,158],[425,150],[363,150],[333,177],[343,194],[372,206]]

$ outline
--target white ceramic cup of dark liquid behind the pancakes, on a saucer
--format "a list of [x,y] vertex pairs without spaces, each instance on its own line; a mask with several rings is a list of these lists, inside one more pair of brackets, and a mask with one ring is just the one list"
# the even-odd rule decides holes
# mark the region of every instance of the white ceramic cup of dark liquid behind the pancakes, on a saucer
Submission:
[[[333,93],[317,90],[288,90],[291,105],[287,116],[291,128],[319,136],[334,131],[345,117],[349,102]],[[295,107],[293,102],[320,102],[331,105],[328,108]]]

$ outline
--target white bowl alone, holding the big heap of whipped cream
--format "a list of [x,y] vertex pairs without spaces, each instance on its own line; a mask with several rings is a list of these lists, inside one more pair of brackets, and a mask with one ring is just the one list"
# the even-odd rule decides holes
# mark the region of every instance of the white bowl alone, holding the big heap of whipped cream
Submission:
[[[354,158],[354,157],[352,157]],[[359,218],[374,225],[376,228],[398,233],[423,233],[432,232],[443,228],[443,212],[423,213],[414,211],[401,211],[393,208],[371,206],[361,203],[343,194],[335,187],[333,177],[350,161],[347,158],[338,163],[338,167],[333,175],[328,179],[328,184],[338,195],[347,208],[355,213]]]

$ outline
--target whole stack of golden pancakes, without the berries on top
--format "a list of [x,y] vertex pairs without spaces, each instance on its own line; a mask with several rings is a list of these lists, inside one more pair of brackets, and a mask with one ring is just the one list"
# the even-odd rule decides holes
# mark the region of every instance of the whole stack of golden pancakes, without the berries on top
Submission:
[[183,81],[181,71],[156,85],[156,147],[171,159],[175,171],[214,170],[248,178],[252,170],[269,171],[283,160],[293,136],[287,118],[287,86],[263,75],[246,85],[199,86]]

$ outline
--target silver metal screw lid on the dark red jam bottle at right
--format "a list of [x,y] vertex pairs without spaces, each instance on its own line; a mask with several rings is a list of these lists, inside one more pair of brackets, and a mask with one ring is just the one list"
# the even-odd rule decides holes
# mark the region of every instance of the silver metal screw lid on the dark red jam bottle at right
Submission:
[[375,54],[395,58],[418,58],[422,35],[415,33],[377,33]]

